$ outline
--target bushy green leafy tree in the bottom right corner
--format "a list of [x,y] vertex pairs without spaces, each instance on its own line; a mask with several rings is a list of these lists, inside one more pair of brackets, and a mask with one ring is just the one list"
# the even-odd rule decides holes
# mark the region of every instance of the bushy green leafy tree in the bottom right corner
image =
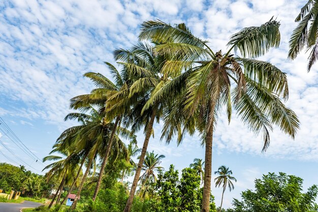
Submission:
[[279,172],[263,175],[255,180],[255,191],[242,192],[242,201],[234,199],[233,209],[229,212],[313,212],[316,211],[314,200],[317,186],[312,186],[302,193],[303,179]]

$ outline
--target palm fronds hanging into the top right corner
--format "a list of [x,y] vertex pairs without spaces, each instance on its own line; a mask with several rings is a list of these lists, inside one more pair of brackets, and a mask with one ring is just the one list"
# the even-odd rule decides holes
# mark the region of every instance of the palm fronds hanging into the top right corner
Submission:
[[318,58],[318,2],[309,0],[303,8],[301,8],[299,15],[296,17],[295,22],[299,22],[294,29],[289,42],[290,59],[295,59],[297,55],[306,46],[306,51],[310,50],[308,57],[307,71],[309,72],[312,65]]

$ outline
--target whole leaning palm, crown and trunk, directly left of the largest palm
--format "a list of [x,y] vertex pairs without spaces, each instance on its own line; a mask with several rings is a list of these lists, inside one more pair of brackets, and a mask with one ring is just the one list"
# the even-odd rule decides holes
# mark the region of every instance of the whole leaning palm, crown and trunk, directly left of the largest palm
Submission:
[[129,212],[145,160],[149,139],[153,133],[153,124],[155,120],[159,122],[164,108],[169,102],[168,98],[155,99],[151,103],[148,100],[151,98],[152,93],[165,85],[173,75],[169,73],[162,75],[160,73],[165,58],[156,55],[153,47],[146,43],[138,43],[130,50],[118,49],[115,51],[115,58],[130,73],[131,83],[126,89],[122,89],[110,97],[108,103],[112,107],[108,111],[116,111],[118,113],[118,110],[122,110],[122,108],[130,108],[129,112],[125,114],[124,124],[131,126],[133,133],[144,127],[145,133],[136,174],[124,209],[125,212]]

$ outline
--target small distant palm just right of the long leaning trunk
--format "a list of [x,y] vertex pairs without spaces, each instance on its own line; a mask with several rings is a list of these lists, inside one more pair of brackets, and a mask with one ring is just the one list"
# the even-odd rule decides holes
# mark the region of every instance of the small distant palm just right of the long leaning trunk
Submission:
[[140,187],[140,191],[143,190],[143,187],[146,183],[149,184],[150,179],[152,179],[154,182],[157,181],[157,177],[154,171],[163,169],[163,167],[158,165],[161,164],[161,160],[165,157],[166,156],[164,155],[154,154],[153,151],[152,153],[146,153],[146,158],[142,167],[144,173],[140,177],[140,184],[142,184],[142,186]]

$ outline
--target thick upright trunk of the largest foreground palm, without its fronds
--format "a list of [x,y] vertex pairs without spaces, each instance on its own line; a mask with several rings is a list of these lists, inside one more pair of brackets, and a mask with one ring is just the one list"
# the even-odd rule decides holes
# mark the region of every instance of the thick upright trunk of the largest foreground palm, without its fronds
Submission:
[[211,195],[211,175],[212,175],[212,141],[213,141],[213,124],[214,124],[215,101],[210,103],[208,124],[210,124],[205,138],[205,172],[202,195],[201,212],[209,212],[210,195]]

